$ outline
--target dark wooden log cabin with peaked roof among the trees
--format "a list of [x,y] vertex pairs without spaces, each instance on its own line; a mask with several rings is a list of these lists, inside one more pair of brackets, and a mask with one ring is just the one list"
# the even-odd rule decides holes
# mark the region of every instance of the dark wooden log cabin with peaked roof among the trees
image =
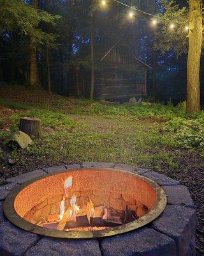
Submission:
[[[147,95],[147,71],[149,65],[136,58],[122,44],[115,44],[106,52],[94,68],[94,98],[105,100],[129,100]],[[77,68],[71,73],[73,93],[89,98],[91,69]]]

